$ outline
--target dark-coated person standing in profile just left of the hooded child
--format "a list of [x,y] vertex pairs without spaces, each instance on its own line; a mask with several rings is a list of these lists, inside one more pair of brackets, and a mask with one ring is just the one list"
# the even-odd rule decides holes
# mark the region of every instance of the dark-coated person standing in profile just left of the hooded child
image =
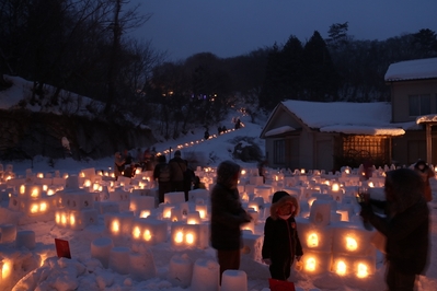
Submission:
[[232,161],[221,162],[217,168],[217,184],[211,190],[210,240],[217,249],[220,281],[225,270],[240,268],[242,247],[241,224],[250,222],[242,208],[237,188],[240,166]]

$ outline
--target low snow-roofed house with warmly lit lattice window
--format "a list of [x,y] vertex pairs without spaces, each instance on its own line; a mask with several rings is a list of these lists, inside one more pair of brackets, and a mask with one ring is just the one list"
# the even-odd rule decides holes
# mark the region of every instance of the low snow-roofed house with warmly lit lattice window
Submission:
[[290,100],[276,106],[261,138],[271,167],[332,171],[365,160],[390,163],[392,139],[405,133],[390,119],[390,103]]

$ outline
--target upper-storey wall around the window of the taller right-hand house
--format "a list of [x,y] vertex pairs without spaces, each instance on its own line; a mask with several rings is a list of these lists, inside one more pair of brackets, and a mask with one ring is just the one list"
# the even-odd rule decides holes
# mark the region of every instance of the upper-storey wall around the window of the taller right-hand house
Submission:
[[392,102],[392,123],[414,121],[417,116],[410,116],[409,96],[430,95],[430,113],[437,113],[437,79],[398,81],[390,83]]

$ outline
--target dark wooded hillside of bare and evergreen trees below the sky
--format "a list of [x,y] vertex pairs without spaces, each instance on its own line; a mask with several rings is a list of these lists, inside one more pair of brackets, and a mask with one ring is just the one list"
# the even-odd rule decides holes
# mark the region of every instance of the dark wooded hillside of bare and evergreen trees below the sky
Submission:
[[315,31],[304,43],[290,35],[238,57],[199,53],[169,61],[151,42],[128,37],[152,16],[129,2],[0,0],[0,90],[10,85],[5,74],[20,75],[33,81],[31,104],[56,105],[71,91],[104,102],[93,108],[99,118],[137,120],[176,138],[220,123],[230,108],[256,116],[289,98],[390,101],[383,78],[390,63],[437,56],[428,28],[360,40],[346,22],[332,24],[326,39]]

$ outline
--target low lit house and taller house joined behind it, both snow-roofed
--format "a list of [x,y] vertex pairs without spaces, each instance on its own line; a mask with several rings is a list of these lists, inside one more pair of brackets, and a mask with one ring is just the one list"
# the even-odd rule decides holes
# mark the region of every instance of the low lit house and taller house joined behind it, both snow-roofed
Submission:
[[279,103],[261,132],[268,165],[332,171],[365,161],[403,165],[426,159],[421,124],[435,144],[428,152],[437,150],[430,130],[437,124],[437,58],[393,63],[384,79],[391,103]]

